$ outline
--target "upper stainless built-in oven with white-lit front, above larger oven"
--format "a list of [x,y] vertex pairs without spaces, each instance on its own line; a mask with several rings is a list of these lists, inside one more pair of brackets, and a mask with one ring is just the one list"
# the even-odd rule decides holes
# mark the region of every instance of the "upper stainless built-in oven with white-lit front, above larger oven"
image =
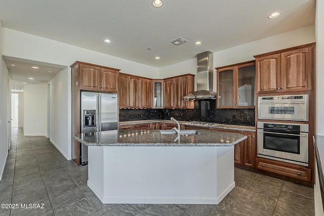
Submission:
[[308,121],[308,95],[258,97],[258,118]]

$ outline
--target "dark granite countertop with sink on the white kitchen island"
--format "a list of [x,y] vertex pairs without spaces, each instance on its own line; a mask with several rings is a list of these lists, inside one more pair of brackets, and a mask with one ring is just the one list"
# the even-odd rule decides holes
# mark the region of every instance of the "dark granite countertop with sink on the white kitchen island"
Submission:
[[87,146],[233,146],[247,139],[247,136],[238,133],[205,129],[196,130],[199,135],[180,136],[161,135],[160,131],[164,130],[113,130],[79,134],[73,139]]

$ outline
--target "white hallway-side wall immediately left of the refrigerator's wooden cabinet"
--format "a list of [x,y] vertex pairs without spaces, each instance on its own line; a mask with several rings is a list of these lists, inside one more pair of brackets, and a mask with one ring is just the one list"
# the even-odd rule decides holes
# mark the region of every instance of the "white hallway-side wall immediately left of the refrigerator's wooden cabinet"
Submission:
[[71,159],[71,109],[68,68],[62,69],[50,81],[50,141],[66,157]]

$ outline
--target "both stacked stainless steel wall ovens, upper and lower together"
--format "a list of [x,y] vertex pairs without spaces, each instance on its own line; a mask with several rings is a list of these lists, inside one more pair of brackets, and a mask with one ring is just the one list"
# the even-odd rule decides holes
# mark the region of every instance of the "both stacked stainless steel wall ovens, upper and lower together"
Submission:
[[[308,95],[258,97],[258,157],[308,166]],[[263,121],[271,119],[275,121]]]

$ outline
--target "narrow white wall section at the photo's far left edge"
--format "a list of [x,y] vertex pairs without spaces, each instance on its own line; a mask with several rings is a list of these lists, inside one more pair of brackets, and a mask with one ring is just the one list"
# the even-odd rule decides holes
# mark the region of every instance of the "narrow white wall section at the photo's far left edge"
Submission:
[[[1,38],[1,22],[0,22],[0,40]],[[2,45],[0,44],[0,55],[2,54]],[[8,70],[7,65],[3,58],[0,61],[0,180],[5,169],[5,164],[8,155],[8,113],[7,113],[7,101],[8,101]]]

